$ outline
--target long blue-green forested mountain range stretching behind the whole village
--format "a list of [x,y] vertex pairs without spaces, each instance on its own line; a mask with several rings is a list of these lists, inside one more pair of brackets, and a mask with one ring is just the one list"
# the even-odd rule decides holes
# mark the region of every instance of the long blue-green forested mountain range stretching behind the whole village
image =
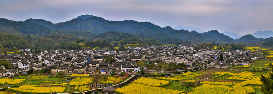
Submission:
[[71,34],[79,38],[88,38],[88,35],[94,36],[93,34],[102,34],[109,31],[145,35],[149,33],[151,36],[144,38],[153,38],[159,41],[163,41],[163,39],[166,38],[177,38],[198,43],[264,42],[273,40],[273,37],[266,39],[255,38],[252,35],[240,37],[240,35],[228,31],[223,33],[217,30],[205,32],[198,28],[183,26],[178,26],[173,29],[170,26],[160,27],[150,22],[137,22],[134,20],[109,21],[93,15],[81,15],[70,21],[56,24],[43,19],[30,18],[17,22],[0,18],[0,32],[17,35],[30,34],[45,36],[48,34]]

